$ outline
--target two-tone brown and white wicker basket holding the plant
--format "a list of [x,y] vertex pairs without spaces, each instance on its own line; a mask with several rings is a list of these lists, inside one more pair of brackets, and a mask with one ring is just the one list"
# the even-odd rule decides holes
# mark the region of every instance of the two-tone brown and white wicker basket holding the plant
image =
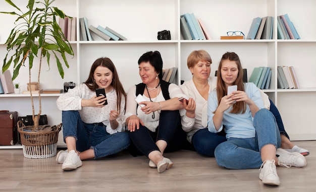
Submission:
[[62,123],[54,126],[41,125],[38,130],[33,131],[33,126],[25,126],[22,121],[18,121],[24,157],[33,159],[54,157],[57,153],[61,127]]

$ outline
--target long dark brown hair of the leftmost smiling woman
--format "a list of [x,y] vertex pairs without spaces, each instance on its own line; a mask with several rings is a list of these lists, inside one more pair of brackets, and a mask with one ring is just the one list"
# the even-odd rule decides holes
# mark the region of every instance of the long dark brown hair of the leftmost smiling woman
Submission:
[[[117,108],[118,108],[118,111],[120,113],[120,106],[121,106],[121,99],[122,99],[122,96],[124,97],[125,101],[126,101],[126,95],[125,95],[125,91],[124,91],[124,88],[123,88],[123,85],[119,79],[119,75],[118,75],[118,72],[114,66],[114,63],[112,62],[112,60],[108,57],[100,57],[100,58],[97,58],[92,66],[91,66],[91,69],[90,69],[90,73],[89,73],[89,77],[88,79],[84,82],[87,87],[91,90],[91,91],[95,91],[96,88],[98,88],[97,84],[95,83],[94,81],[94,78],[93,78],[93,74],[94,74],[94,71],[97,67],[106,67],[108,68],[112,73],[113,73],[113,79],[112,79],[112,87],[114,88],[114,90],[116,91],[116,95],[117,95],[117,98],[118,98],[118,101],[117,101]],[[126,107],[126,102],[125,102],[125,106],[124,108]]]

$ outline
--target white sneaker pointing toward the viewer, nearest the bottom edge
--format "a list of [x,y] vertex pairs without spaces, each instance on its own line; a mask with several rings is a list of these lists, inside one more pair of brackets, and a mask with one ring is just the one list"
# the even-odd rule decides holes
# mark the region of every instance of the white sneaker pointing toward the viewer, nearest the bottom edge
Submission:
[[266,160],[262,163],[259,171],[259,178],[262,183],[269,185],[280,185],[280,178],[277,174],[277,166],[275,165],[275,160]]

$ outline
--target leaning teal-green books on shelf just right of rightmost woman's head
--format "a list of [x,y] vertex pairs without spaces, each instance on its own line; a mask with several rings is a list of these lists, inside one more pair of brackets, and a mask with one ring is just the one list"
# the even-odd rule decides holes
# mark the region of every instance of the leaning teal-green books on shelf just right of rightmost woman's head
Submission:
[[259,89],[269,89],[272,71],[270,67],[254,68],[249,82],[254,83]]

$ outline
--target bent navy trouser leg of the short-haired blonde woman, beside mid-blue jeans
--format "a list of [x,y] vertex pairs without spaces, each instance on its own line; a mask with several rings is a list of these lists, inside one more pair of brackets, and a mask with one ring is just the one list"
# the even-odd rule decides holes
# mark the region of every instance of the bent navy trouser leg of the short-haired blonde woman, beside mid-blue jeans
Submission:
[[225,134],[211,133],[207,128],[201,129],[194,133],[192,137],[192,145],[194,149],[209,157],[214,157],[215,148],[226,141]]

